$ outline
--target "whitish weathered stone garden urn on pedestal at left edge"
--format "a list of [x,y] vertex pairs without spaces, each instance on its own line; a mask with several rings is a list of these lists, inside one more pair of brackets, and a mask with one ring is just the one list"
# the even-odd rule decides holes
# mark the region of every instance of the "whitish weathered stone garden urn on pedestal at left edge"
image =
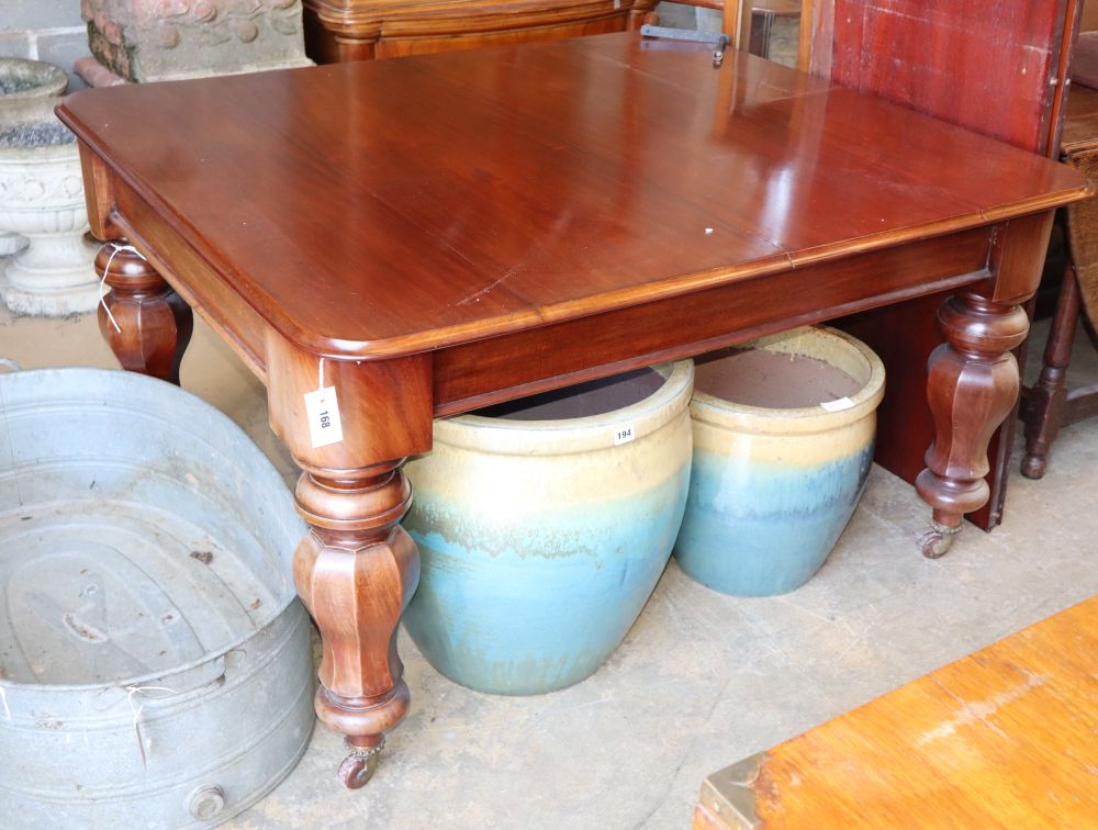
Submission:
[[76,137],[53,113],[67,82],[52,64],[0,59],[0,232],[26,239],[22,250],[8,244],[18,253],[0,294],[20,314],[83,313],[99,301]]

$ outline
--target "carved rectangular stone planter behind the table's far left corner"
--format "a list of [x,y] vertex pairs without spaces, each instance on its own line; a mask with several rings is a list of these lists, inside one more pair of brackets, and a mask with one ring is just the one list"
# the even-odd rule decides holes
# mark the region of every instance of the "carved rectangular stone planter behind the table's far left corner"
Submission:
[[88,43],[132,81],[310,66],[301,0],[81,0]]

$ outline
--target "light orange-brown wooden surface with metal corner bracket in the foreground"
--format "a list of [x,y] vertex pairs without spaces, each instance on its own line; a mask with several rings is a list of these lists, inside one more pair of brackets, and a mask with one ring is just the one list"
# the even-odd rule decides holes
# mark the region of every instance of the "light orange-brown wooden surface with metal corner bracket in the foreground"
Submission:
[[706,778],[694,830],[1084,828],[1098,596]]

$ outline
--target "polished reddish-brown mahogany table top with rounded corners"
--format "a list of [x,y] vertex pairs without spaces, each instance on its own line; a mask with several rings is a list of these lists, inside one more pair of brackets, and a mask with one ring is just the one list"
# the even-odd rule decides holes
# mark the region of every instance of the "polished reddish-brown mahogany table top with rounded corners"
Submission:
[[614,34],[87,90],[59,114],[232,292],[330,357],[461,344],[1082,192],[1043,158],[709,55]]

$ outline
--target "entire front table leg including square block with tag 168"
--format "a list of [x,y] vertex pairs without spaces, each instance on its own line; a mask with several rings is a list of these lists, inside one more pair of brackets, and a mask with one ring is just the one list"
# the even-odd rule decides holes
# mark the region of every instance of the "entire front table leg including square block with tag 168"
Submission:
[[[316,714],[346,737],[339,777],[356,788],[408,710],[396,629],[419,553],[399,524],[412,503],[401,463],[430,449],[430,356],[328,359],[273,332],[265,350],[271,427],[304,471],[294,496],[310,532],[293,577],[323,641]],[[320,390],[337,434],[311,420]]]

